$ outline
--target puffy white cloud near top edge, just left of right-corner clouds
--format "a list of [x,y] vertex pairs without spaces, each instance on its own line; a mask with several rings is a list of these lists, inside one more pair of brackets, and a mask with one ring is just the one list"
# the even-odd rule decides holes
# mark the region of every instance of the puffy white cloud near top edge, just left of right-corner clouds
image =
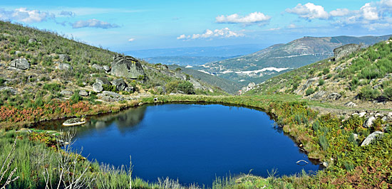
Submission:
[[329,18],[329,13],[324,11],[323,6],[315,5],[312,3],[307,3],[307,4],[297,4],[296,7],[293,9],[286,9],[288,13],[294,13],[300,16],[301,18],[306,18],[306,19],[314,19],[314,18],[319,18],[319,19],[328,19]]

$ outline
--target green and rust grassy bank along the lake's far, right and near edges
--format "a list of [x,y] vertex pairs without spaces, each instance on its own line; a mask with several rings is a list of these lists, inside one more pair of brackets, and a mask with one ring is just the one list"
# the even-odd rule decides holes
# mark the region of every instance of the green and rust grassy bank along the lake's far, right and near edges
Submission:
[[[267,112],[283,130],[308,153],[309,158],[328,163],[324,171],[316,175],[301,173],[282,176],[272,171],[269,178],[255,175],[242,175],[240,178],[217,178],[212,188],[391,188],[392,187],[392,135],[390,123],[378,120],[371,128],[363,128],[363,117],[350,117],[345,121],[339,115],[319,114],[309,108],[313,102],[295,95],[267,96],[204,96],[168,95],[141,99],[143,103],[206,102],[239,105],[257,108]],[[133,102],[130,104],[138,104]],[[109,106],[111,109],[120,107]],[[125,107],[125,106],[124,106]],[[98,111],[99,112],[99,111]],[[371,132],[383,129],[383,137],[368,146],[359,146]],[[358,139],[353,138],[358,134]],[[11,188],[45,188],[45,175],[48,171],[51,182],[57,183],[58,148],[56,136],[46,131],[29,133],[26,131],[1,131],[0,163],[4,162],[15,137],[18,136],[15,161],[12,168],[18,168],[15,175],[19,180]],[[68,151],[71,153],[71,151]],[[61,153],[61,156],[68,156]],[[39,154],[46,157],[41,159]],[[99,165],[97,162],[76,158],[75,171],[68,174],[94,178],[86,188],[129,188],[129,175],[125,168]],[[72,162],[72,161],[70,161]],[[86,172],[83,174],[83,171]],[[9,173],[6,173],[9,175]],[[137,176],[137,175],[136,175]],[[66,181],[67,182],[67,181]],[[68,180],[69,182],[69,180]],[[181,186],[177,180],[162,179],[160,183],[148,183],[133,176],[133,188],[196,188],[195,185]],[[0,186],[4,180],[0,181]],[[62,186],[67,183],[63,183]]]

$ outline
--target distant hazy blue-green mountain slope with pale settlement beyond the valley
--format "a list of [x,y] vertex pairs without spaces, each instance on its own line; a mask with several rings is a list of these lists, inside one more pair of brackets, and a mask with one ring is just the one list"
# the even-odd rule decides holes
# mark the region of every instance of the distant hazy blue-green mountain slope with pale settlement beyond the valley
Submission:
[[247,85],[249,82],[263,82],[274,75],[332,57],[334,48],[341,45],[356,43],[366,47],[389,37],[304,37],[238,58],[207,63],[195,69]]

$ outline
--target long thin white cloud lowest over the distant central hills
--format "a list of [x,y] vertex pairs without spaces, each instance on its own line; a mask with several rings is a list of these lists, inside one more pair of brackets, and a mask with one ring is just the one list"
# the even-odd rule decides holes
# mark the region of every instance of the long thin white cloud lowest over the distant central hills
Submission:
[[185,40],[185,39],[199,39],[199,38],[237,38],[237,37],[243,37],[245,36],[243,33],[237,33],[234,31],[230,31],[229,28],[222,28],[222,29],[215,29],[214,31],[207,29],[205,33],[201,34],[192,34],[186,36],[185,34],[182,34],[181,36],[178,36],[177,39],[179,40]]

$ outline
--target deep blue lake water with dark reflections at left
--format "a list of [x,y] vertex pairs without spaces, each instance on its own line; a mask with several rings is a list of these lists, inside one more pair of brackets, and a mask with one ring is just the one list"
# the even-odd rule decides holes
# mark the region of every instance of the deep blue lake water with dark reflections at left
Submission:
[[132,156],[133,175],[183,184],[211,186],[216,177],[250,170],[267,177],[272,169],[291,175],[321,168],[266,113],[220,104],[149,105],[92,117],[78,127],[74,147],[114,166],[129,166]]

